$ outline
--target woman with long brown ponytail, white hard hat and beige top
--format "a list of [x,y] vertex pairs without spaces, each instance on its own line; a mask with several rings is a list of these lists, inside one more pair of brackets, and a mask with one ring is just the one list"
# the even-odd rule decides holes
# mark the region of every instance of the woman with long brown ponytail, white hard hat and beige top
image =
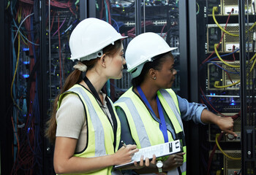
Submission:
[[[78,60],[56,98],[46,136],[55,143],[57,174],[120,174],[136,145],[118,149],[121,125],[113,103],[102,92],[108,79],[122,77],[124,36],[103,20],[81,21],[69,39],[71,60]],[[85,72],[85,77],[83,77]],[[149,164],[149,163],[147,163]],[[144,162],[135,163],[144,166]]]

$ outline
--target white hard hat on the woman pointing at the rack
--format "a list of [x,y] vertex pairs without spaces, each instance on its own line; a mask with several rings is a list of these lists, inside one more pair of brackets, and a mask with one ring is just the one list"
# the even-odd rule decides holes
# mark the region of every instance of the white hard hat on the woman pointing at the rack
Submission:
[[127,61],[127,71],[132,73],[132,77],[138,77],[146,62],[165,52],[175,50],[177,47],[169,47],[158,34],[147,32],[132,39],[125,51]]

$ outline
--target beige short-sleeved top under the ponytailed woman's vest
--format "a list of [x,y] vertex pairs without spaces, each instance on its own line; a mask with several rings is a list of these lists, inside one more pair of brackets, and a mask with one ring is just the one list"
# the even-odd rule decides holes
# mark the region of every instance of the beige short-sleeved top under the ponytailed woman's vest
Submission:
[[[106,94],[102,93],[104,106],[100,105],[103,112],[113,121],[108,110]],[[99,101],[98,101],[99,102]],[[69,93],[61,101],[61,106],[56,113],[56,136],[78,139],[75,152],[81,152],[87,143],[87,123],[83,103],[75,93]]]

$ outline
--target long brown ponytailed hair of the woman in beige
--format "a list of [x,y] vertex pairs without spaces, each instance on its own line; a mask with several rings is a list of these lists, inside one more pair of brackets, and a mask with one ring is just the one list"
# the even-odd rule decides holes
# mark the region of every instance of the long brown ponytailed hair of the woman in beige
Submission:
[[[114,44],[109,44],[107,47],[103,48],[103,53],[106,55],[113,56],[118,52],[118,50],[121,48],[121,40],[117,40]],[[87,70],[90,70],[94,67],[94,65],[97,63],[99,58],[92,59],[90,61],[82,61],[83,64],[87,66]],[[56,139],[56,112],[58,107],[58,101],[59,96],[72,88],[73,85],[78,84],[83,80],[83,74],[82,71],[79,71],[78,69],[75,69],[72,71],[71,74],[67,77],[65,84],[63,88],[61,89],[61,93],[56,96],[55,100],[53,101],[53,109],[51,112],[50,119],[46,122],[46,128],[45,128],[45,137],[49,139],[50,143],[54,144]]]

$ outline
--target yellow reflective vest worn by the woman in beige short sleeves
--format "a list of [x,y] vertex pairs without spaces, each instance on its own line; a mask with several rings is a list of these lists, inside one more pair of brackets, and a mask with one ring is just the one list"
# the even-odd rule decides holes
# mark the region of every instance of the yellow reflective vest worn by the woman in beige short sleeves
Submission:
[[[83,88],[81,85],[74,85],[65,93],[61,94],[61,96],[59,97],[58,109],[61,104],[61,100],[68,93],[77,94],[80,100],[83,102],[83,106],[85,107],[86,112],[86,123],[88,130],[86,148],[83,150],[83,152],[80,152],[78,154],[75,153],[74,156],[79,158],[94,158],[114,154],[118,150],[120,142],[121,123],[110,98],[107,97],[115,115],[115,118],[113,119],[114,127],[112,127],[110,120],[102,111],[101,107],[97,102],[97,99],[94,98],[93,94],[89,92],[89,90],[86,90],[86,88]],[[115,130],[116,132],[114,132]],[[113,166],[109,166],[99,171],[85,174],[112,175],[121,174],[121,171],[113,171]]]

